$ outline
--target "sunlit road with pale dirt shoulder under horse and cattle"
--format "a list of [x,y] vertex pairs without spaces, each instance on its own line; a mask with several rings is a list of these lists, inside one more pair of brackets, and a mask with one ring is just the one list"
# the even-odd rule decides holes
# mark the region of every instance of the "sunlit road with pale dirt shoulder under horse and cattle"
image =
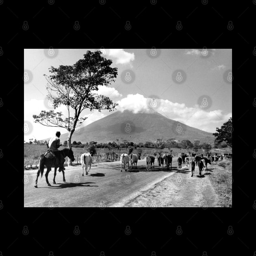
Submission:
[[88,176],[81,176],[80,167],[66,167],[66,182],[57,171],[58,184],[52,184],[52,168],[48,176],[52,187],[47,186],[43,175],[37,189],[34,188],[37,170],[24,171],[24,207],[216,206],[217,195],[207,171],[199,178],[196,167],[191,177],[189,167],[182,165],[181,170],[177,167],[177,158],[173,158],[171,170],[160,171],[158,167],[146,171],[145,160],[138,162],[137,170],[129,172],[124,169],[120,172],[119,162],[95,164]]

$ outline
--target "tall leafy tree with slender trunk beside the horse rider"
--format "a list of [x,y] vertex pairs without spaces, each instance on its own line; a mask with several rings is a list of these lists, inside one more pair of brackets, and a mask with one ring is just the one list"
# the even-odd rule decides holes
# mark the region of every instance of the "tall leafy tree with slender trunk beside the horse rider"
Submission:
[[[39,115],[33,115],[33,118],[36,123],[44,126],[65,128],[68,131],[69,148],[75,128],[86,119],[80,117],[83,110],[113,111],[117,106],[110,98],[97,93],[99,86],[108,86],[117,77],[117,68],[111,67],[112,60],[105,59],[101,54],[100,51],[87,51],[84,58],[74,65],[50,67],[52,75],[45,75],[48,99],[53,102],[54,110],[41,111]],[[67,107],[67,116],[55,112],[61,105]]]

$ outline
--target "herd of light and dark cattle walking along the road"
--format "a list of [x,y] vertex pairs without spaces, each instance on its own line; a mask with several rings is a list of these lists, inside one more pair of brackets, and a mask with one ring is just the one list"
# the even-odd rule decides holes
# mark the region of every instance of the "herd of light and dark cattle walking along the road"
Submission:
[[[224,155],[217,155],[217,153],[215,153],[214,156],[210,154],[207,154],[206,156],[207,157],[205,157],[203,154],[201,154],[200,156],[197,156],[196,154],[193,154],[193,153],[190,156],[188,156],[187,154],[182,153],[181,156],[178,157],[178,168],[181,169],[182,162],[183,164],[186,164],[186,166],[189,165],[191,169],[191,177],[192,177],[194,174],[196,165],[198,166],[199,174],[201,175],[203,168],[207,169],[207,164],[211,165],[214,163],[217,164],[218,161],[222,162],[223,157],[232,159],[232,153],[224,154]],[[158,169],[160,169],[161,165],[163,169],[164,163],[165,163],[165,167],[167,167],[167,169],[170,169],[172,158],[173,158],[172,154],[164,154],[163,157],[158,156],[157,157]],[[88,175],[88,172],[91,169],[92,160],[93,159],[90,153],[84,153],[81,155],[82,176],[84,176],[84,166],[85,166],[85,174]],[[124,165],[124,170],[128,171],[129,163],[131,163],[131,169],[133,168],[133,166],[137,169],[138,156],[133,153],[130,155],[123,153],[121,154],[120,162],[121,162],[121,171],[122,171],[122,165]],[[150,167],[151,168],[155,167],[154,156],[146,156],[145,162],[146,162],[146,170],[149,170]],[[88,170],[88,167],[89,167],[89,170]]]

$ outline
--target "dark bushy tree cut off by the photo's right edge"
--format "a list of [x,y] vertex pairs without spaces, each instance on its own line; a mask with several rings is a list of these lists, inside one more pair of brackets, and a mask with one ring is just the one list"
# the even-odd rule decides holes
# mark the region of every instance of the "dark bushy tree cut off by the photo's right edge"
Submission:
[[215,133],[213,135],[216,137],[215,143],[220,144],[222,141],[225,141],[230,147],[232,147],[232,117],[228,119],[226,123],[224,123],[221,128],[216,128]]

